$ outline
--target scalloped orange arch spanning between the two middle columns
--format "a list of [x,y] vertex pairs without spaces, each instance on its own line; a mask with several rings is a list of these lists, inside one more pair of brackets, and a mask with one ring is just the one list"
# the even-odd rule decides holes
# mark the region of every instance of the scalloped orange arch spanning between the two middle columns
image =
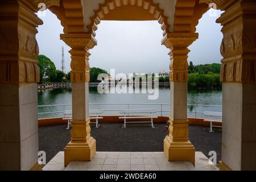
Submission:
[[87,26],[90,34],[96,36],[97,24],[100,24],[101,19],[106,14],[118,7],[127,5],[138,6],[148,10],[148,13],[154,15],[158,23],[161,24],[163,36],[169,32],[170,24],[168,24],[168,17],[164,15],[164,10],[160,9],[159,4],[155,4],[152,0],[106,0],[105,3],[100,5],[98,10],[94,10],[94,16],[90,18],[92,23]]

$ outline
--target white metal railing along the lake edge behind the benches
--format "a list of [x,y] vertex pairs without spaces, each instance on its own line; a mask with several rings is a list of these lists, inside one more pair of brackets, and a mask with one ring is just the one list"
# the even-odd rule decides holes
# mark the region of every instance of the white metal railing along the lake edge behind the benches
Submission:
[[[72,106],[71,104],[59,104],[59,105],[43,105],[43,106],[38,106],[39,108],[39,118],[43,114],[58,114],[58,113],[63,113],[66,110],[66,107]],[[102,110],[103,113],[113,113],[113,112],[118,112],[121,110],[120,108],[117,109],[102,109],[102,106],[125,106],[125,108],[122,109],[131,109],[132,106],[156,106],[158,109],[156,109],[156,112],[158,112],[161,117],[163,116],[164,113],[169,113],[170,112],[170,104],[141,104],[141,103],[97,103],[97,104],[89,104],[89,106],[94,106],[94,109]],[[168,110],[164,107],[168,106]],[[52,107],[63,107],[63,109],[59,109],[57,111],[52,111]],[[199,114],[204,114],[204,111],[221,111],[222,106],[221,105],[188,105],[188,108],[192,107],[192,110],[190,109],[188,111],[188,114],[195,114],[195,118]],[[203,108],[199,109],[199,107],[212,107],[206,110],[203,110]],[[44,108],[47,108],[47,110],[50,111],[42,111]],[[217,110],[210,110],[213,108],[218,108]],[[138,109],[138,108],[137,108]],[[145,108],[144,108],[145,109]],[[151,107],[152,109],[152,107]],[[155,109],[155,107],[153,108]]]

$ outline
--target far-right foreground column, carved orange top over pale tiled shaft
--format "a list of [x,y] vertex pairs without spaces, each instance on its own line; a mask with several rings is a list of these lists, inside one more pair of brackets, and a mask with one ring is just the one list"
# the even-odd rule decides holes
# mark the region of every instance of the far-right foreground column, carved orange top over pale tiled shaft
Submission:
[[[224,2],[222,2],[224,3]],[[222,170],[256,169],[256,3],[229,1],[218,18],[224,38]]]

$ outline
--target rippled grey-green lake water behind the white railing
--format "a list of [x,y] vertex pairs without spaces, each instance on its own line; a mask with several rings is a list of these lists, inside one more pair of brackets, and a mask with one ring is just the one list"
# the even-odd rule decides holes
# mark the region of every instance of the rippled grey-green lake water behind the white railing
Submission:
[[[62,105],[72,103],[72,89],[53,89],[38,91],[38,105]],[[157,100],[148,100],[148,94],[100,94],[97,87],[89,88],[89,104],[170,104],[169,86],[160,86]],[[188,105],[222,105],[221,90],[188,90]],[[159,115],[169,115],[168,105],[90,105],[89,109],[121,110],[121,109],[156,109]],[[60,113],[39,114],[39,118],[61,117],[64,110],[71,110],[71,106],[39,107],[39,113],[59,111]],[[162,110],[162,112],[160,112]],[[221,111],[219,106],[188,106],[188,117],[204,117],[200,112]],[[192,113],[189,113],[192,112]],[[104,111],[104,114],[118,114],[118,111]]]

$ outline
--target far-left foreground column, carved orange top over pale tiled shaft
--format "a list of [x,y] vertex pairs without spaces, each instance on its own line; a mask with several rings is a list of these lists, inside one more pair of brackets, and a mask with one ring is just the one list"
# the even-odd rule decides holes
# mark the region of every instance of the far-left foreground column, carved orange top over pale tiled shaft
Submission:
[[32,1],[0,6],[0,170],[38,167],[36,27],[42,24]]

